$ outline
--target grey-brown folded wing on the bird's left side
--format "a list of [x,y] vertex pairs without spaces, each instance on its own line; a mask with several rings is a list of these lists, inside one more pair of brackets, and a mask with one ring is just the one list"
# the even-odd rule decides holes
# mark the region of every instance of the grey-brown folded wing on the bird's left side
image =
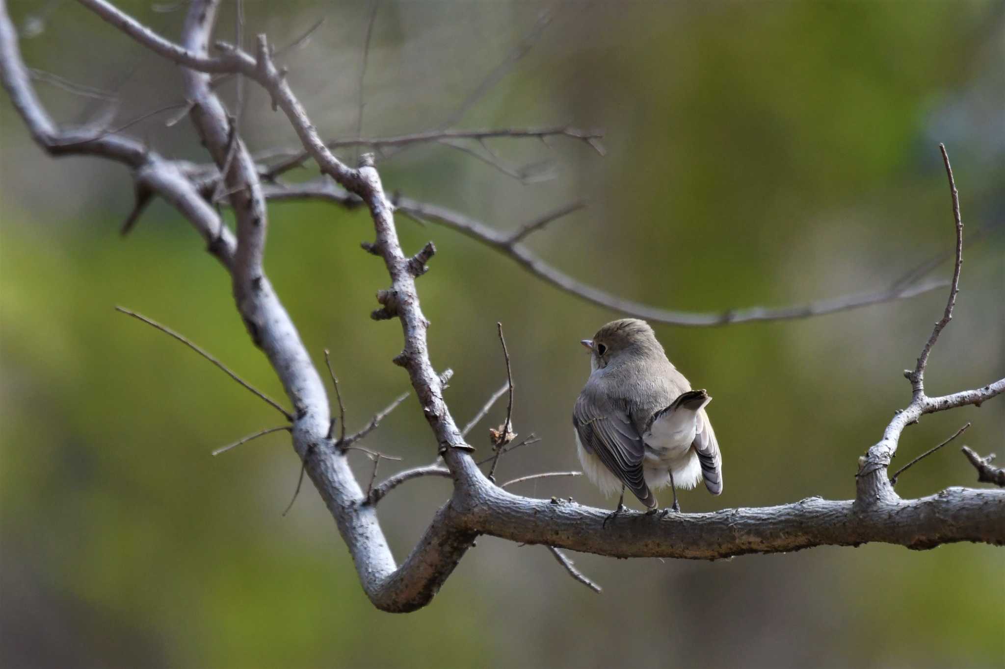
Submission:
[[576,400],[572,422],[583,447],[599,457],[642,504],[655,507],[656,498],[642,473],[645,445],[628,412],[584,390]]

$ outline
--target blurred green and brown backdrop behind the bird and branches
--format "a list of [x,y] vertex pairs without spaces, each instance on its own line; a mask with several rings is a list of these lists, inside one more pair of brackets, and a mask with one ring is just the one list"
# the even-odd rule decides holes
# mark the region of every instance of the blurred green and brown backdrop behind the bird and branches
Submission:
[[[177,38],[183,2],[117,3]],[[246,39],[282,45],[289,80],[331,137],[356,136],[370,5],[244,3]],[[235,5],[217,35],[233,39]],[[543,11],[548,11],[543,15]],[[63,122],[118,126],[181,101],[180,73],[73,2],[10,2],[31,67],[114,93],[38,93]],[[607,154],[555,138],[496,139],[514,179],[442,144],[381,160],[389,191],[516,229],[579,198],[592,206],[529,245],[583,282],[652,305],[722,311],[889,286],[953,245],[937,144],[949,149],[967,225],[952,325],[930,392],[1005,375],[1005,4],[391,2],[373,24],[364,136],[564,124],[603,128]],[[493,75],[494,73],[494,75]],[[494,78],[493,78],[494,77]],[[493,82],[494,81],[494,82]],[[489,82],[491,85],[486,84]],[[233,82],[221,87],[233,106]],[[478,94],[476,94],[478,93]],[[114,114],[114,115],[113,115]],[[205,161],[174,110],[129,128],[157,150]],[[454,116],[460,114],[459,118]],[[295,146],[248,86],[254,150]],[[542,547],[478,540],[425,609],[371,606],[317,492],[290,513],[299,462],[282,433],[210,451],[278,424],[273,410],[192,351],[113,311],[181,331],[266,393],[281,388],[250,343],[229,282],[195,232],[155,203],[134,233],[131,176],[97,158],[46,157],[0,103],[0,625],[6,666],[1001,666],[1005,559],[954,545],[819,548],[717,563],[572,555],[604,590],[571,580]],[[468,144],[483,150],[477,144]],[[355,159],[355,149],[342,151]],[[511,170],[512,172],[512,170]],[[290,179],[310,179],[314,169]],[[305,342],[342,382],[351,430],[408,389],[390,359],[395,323],[374,322],[382,263],[365,212],[269,208],[266,267]],[[479,243],[398,218],[405,250],[439,252],[419,282],[434,364],[463,424],[505,380],[515,423],[542,441],[500,476],[578,468],[570,411],[589,372],[577,343],[619,314],[559,292]],[[931,277],[948,278],[946,256]],[[697,387],[725,456],[721,497],[686,512],[854,495],[856,458],[910,400],[912,367],[944,290],[810,320],[725,328],[656,326]],[[488,453],[485,429],[472,432]],[[894,466],[967,421],[913,467],[904,496],[972,485],[959,453],[1005,441],[1005,401],[927,416]],[[414,397],[366,445],[413,466],[435,451]],[[366,480],[370,462],[357,453]],[[383,473],[394,466],[382,464]],[[525,494],[612,507],[583,478]],[[412,481],[381,505],[401,558],[448,481]],[[662,501],[667,501],[661,499]]]

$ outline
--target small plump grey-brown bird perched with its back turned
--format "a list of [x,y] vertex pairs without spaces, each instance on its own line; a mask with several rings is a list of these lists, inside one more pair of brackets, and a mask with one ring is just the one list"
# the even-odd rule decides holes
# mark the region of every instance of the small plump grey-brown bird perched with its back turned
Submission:
[[591,351],[591,373],[573,409],[576,446],[590,480],[605,494],[621,490],[613,515],[625,510],[625,487],[651,512],[651,488],[669,485],[674,512],[677,487],[703,479],[721,493],[723,458],[705,410],[712,397],[691,390],[649,324],[612,321],[581,343]]

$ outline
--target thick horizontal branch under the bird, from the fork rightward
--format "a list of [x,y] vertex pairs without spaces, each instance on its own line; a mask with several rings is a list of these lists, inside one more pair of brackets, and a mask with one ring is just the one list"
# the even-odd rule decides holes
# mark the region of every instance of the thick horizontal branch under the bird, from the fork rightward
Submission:
[[[666,518],[554,499],[531,499],[491,485],[465,497],[458,520],[472,531],[616,558],[716,560],[869,542],[931,549],[953,542],[1005,544],[1005,490],[950,487],[919,499],[859,508],[809,497],[781,507],[728,509]],[[947,522],[952,519],[952,522]]]

